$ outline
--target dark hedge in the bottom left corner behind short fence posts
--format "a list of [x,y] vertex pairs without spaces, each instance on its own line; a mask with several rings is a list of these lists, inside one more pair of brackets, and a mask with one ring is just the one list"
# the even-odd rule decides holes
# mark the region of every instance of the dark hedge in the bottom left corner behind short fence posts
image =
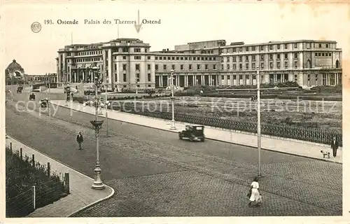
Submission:
[[6,147],[6,217],[25,217],[34,211],[33,190],[36,186],[36,209],[56,202],[68,195],[64,182],[59,176],[51,174],[45,165],[32,161],[25,156],[20,158]]

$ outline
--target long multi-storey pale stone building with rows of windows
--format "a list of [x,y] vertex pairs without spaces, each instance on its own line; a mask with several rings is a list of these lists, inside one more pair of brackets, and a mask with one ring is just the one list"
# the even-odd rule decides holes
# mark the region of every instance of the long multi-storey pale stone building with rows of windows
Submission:
[[335,41],[270,41],[245,44],[202,41],[151,52],[136,38],[106,43],[74,44],[59,49],[58,82],[93,80],[94,63],[109,88],[166,87],[172,69],[174,83],[192,85],[255,85],[295,81],[302,86],[342,83],[342,50]]

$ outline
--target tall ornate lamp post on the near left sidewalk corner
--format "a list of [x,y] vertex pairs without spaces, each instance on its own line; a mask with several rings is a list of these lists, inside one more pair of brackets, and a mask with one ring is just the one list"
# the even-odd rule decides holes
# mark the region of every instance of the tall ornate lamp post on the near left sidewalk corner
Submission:
[[98,87],[99,87],[99,85],[102,84],[102,82],[100,82],[99,77],[98,77],[98,67],[94,66],[92,69],[94,69],[94,71],[97,70],[97,75],[94,77],[94,85],[95,85],[94,107],[95,107],[96,117],[95,117],[95,120],[90,120],[90,123],[92,124],[92,127],[94,129],[95,138],[96,138],[96,165],[94,168],[95,179],[94,179],[94,183],[92,184],[92,189],[102,190],[105,188],[105,186],[104,186],[104,183],[102,183],[102,179],[101,179],[102,169],[99,165],[99,130],[102,129],[102,124],[104,123],[104,121],[98,120],[98,118],[99,118],[98,109],[99,109],[99,106],[101,106],[101,104],[100,104],[98,93],[97,93]]

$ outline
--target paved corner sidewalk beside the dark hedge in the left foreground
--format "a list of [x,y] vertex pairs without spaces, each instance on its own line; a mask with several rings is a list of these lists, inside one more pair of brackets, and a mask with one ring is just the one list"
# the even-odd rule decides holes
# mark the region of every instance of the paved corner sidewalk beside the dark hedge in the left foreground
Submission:
[[92,204],[106,200],[114,194],[113,188],[109,186],[106,186],[104,190],[93,190],[91,188],[94,181],[92,178],[85,176],[66,165],[62,165],[62,163],[57,162],[56,160],[53,160],[8,136],[8,139],[6,139],[6,146],[10,146],[10,142],[12,142],[13,151],[19,151],[22,147],[23,156],[28,155],[29,158],[31,158],[31,155],[34,154],[36,162],[40,162],[42,165],[47,165],[47,163],[50,162],[52,173],[69,173],[70,194],[66,197],[62,197],[57,202],[36,209],[27,217],[69,217],[86,207],[90,207]]

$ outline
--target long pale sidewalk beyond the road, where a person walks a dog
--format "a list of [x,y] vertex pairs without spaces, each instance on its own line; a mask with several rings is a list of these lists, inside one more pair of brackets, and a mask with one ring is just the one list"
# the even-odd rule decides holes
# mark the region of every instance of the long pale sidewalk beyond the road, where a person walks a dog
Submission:
[[[83,111],[85,113],[94,114],[94,107],[83,106],[77,102],[72,102],[68,106],[64,106],[63,100],[52,100],[52,104],[71,108],[76,111]],[[102,117],[105,117],[104,112]],[[143,125],[146,127],[153,127],[160,130],[166,130],[170,132],[180,132],[185,129],[185,125],[191,125],[189,123],[176,122],[176,130],[170,130],[170,120],[162,120],[160,118],[151,118],[148,116],[139,116],[132,113],[125,113],[120,111],[108,111],[108,116],[113,120],[120,120],[127,123],[136,125]],[[239,132],[236,130],[225,130],[217,127],[206,126],[204,134],[207,139],[214,139],[218,141],[225,141],[232,144],[239,144],[244,146],[258,146],[258,137],[256,134]],[[317,144],[309,141],[301,141],[297,139],[286,139],[281,137],[270,137],[262,135],[261,137],[261,148],[269,151],[279,151],[281,153],[288,153],[293,155],[300,155],[307,158],[314,158],[318,160],[325,160],[329,162],[337,162],[342,164],[342,148],[337,151],[337,158],[332,158],[332,152],[330,146],[324,144]],[[329,151],[330,159],[323,158],[320,151]]]

